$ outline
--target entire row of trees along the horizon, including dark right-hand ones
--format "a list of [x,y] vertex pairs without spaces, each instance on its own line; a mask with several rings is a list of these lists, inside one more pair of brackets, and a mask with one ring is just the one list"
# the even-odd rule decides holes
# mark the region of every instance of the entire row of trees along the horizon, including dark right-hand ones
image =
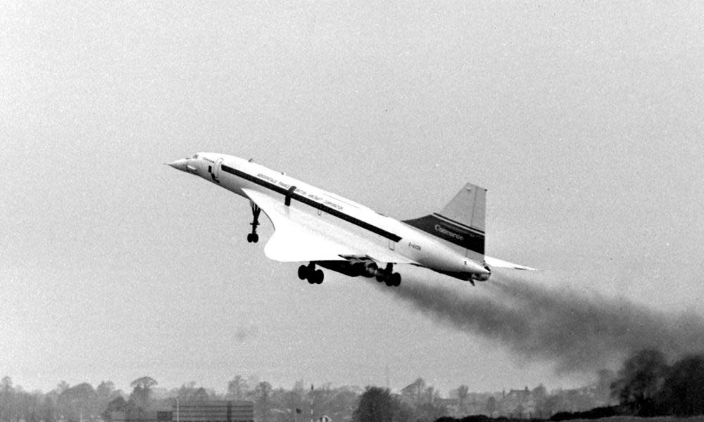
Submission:
[[[150,411],[168,409],[180,402],[207,402],[210,400],[249,400],[254,403],[257,422],[308,421],[327,415],[334,421],[353,422],[432,422],[448,418],[446,401],[438,392],[425,385],[422,378],[394,394],[389,389],[368,386],[365,389],[331,384],[307,388],[298,381],[294,388],[273,388],[266,381],[235,376],[227,384],[227,392],[186,383],[172,390],[157,390],[157,381],[149,376],[137,378],[130,384],[131,392],[115,388],[112,381],[102,381],[94,388],[89,383],[68,385],[59,383],[54,390],[43,393],[27,392],[13,385],[11,378],[0,380],[0,422],[111,422],[114,412],[124,412],[129,418],[141,419]],[[608,388],[605,388],[605,385]],[[610,390],[614,406],[597,407],[597,402]],[[672,364],[658,350],[642,350],[629,357],[617,375],[609,371],[599,374],[599,381],[591,388],[567,390],[548,394],[542,386],[534,390],[512,390],[515,395],[497,396],[486,393],[486,406],[467,421],[489,419],[501,415],[502,404],[521,409],[520,402],[530,397],[537,413],[518,412],[517,417],[551,418],[553,421],[569,418],[598,418],[604,416],[697,416],[704,414],[704,354],[693,354]],[[519,394],[524,393],[524,394]],[[460,409],[467,406],[470,393],[465,385],[458,388]],[[497,398],[498,397],[498,398]],[[511,402],[517,397],[518,402]],[[484,420],[484,419],[482,419]]]

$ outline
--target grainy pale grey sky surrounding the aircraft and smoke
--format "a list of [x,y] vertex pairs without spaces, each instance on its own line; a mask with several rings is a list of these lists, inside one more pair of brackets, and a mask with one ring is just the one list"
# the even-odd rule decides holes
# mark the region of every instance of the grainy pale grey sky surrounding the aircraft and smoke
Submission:
[[359,279],[298,281],[246,243],[246,201],[163,162],[253,157],[399,218],[471,181],[489,254],[543,269],[521,283],[702,315],[703,69],[697,1],[4,2],[0,373],[588,381]]

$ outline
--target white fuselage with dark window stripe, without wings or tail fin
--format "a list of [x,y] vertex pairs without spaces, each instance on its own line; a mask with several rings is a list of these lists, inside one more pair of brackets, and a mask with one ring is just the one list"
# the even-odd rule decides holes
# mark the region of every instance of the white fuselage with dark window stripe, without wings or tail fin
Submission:
[[[218,153],[198,153],[178,162],[180,170],[197,174],[245,198],[249,197],[243,189],[289,201],[291,207],[308,212],[320,222],[339,226],[342,236],[362,236],[422,267],[461,279],[465,277],[459,275],[466,274],[467,280],[471,274],[489,272],[481,263],[434,236],[268,167]],[[176,167],[173,163],[172,166]]]

